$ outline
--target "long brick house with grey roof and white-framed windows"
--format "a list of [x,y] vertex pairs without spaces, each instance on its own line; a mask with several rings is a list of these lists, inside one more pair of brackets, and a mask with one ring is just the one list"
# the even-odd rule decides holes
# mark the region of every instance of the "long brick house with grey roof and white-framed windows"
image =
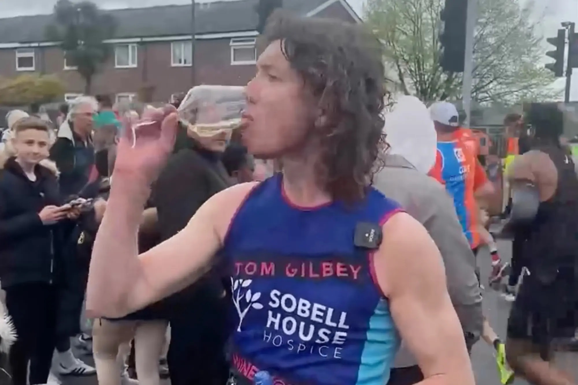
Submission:
[[[254,75],[258,0],[198,3],[195,8],[197,83],[244,85]],[[360,22],[345,0],[284,0],[284,8],[303,16]],[[192,81],[191,5],[110,10],[117,20],[114,53],[92,81],[94,94],[134,98],[150,87],[153,101],[187,91]],[[45,31],[51,15],[0,18],[0,76],[37,72],[56,74],[65,99],[84,90],[84,81],[66,65],[56,42]]]

